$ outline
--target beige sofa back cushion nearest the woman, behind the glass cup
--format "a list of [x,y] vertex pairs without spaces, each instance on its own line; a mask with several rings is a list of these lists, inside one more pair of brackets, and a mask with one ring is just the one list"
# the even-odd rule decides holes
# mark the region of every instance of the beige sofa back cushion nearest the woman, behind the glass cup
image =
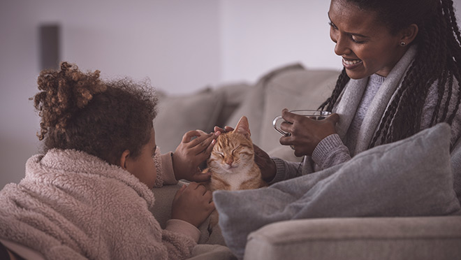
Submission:
[[300,161],[290,147],[279,143],[280,134],[272,126],[272,120],[283,108],[316,109],[328,99],[339,71],[306,70],[300,64],[277,68],[264,75],[247,93],[246,98],[226,125],[235,127],[240,117],[248,117],[251,140],[273,157],[288,161]]

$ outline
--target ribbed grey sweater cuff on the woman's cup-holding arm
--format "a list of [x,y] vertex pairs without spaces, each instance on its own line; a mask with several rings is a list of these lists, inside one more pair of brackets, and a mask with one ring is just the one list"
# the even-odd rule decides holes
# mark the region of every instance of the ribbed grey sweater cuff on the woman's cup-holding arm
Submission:
[[342,143],[337,133],[323,138],[312,152],[312,160],[320,170],[342,164],[350,159],[349,149]]

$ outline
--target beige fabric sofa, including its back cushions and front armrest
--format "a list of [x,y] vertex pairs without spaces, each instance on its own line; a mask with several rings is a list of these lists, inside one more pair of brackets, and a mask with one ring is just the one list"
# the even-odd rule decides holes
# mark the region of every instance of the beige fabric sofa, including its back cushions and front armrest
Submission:
[[[339,71],[290,64],[266,73],[255,84],[235,82],[182,96],[159,92],[156,143],[163,153],[174,151],[186,131],[233,127],[245,115],[256,145],[272,157],[300,161],[290,147],[279,144],[280,134],[273,129],[272,120],[283,108],[318,108],[338,75]],[[154,189],[153,212],[161,225],[169,217],[177,188]],[[226,245],[219,233],[209,236],[206,223],[200,229],[200,244]],[[193,259],[235,259],[225,248]],[[275,222],[249,233],[244,259],[461,259],[461,216],[320,217]]]

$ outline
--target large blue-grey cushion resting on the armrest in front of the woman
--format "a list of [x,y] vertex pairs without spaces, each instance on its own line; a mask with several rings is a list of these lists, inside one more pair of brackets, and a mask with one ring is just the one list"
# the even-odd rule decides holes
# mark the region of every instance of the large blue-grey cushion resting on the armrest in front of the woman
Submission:
[[258,190],[214,192],[226,245],[241,259],[249,233],[289,219],[460,215],[450,132],[437,124],[318,173]]

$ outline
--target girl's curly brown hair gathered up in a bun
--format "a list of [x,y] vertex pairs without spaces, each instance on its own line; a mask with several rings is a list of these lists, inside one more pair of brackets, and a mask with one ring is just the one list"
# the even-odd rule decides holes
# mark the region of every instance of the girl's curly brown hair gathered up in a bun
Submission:
[[126,78],[104,82],[99,73],[67,62],[60,71],[41,71],[41,92],[33,99],[45,152],[80,150],[115,164],[124,150],[137,157],[149,141],[157,103],[152,88]]

